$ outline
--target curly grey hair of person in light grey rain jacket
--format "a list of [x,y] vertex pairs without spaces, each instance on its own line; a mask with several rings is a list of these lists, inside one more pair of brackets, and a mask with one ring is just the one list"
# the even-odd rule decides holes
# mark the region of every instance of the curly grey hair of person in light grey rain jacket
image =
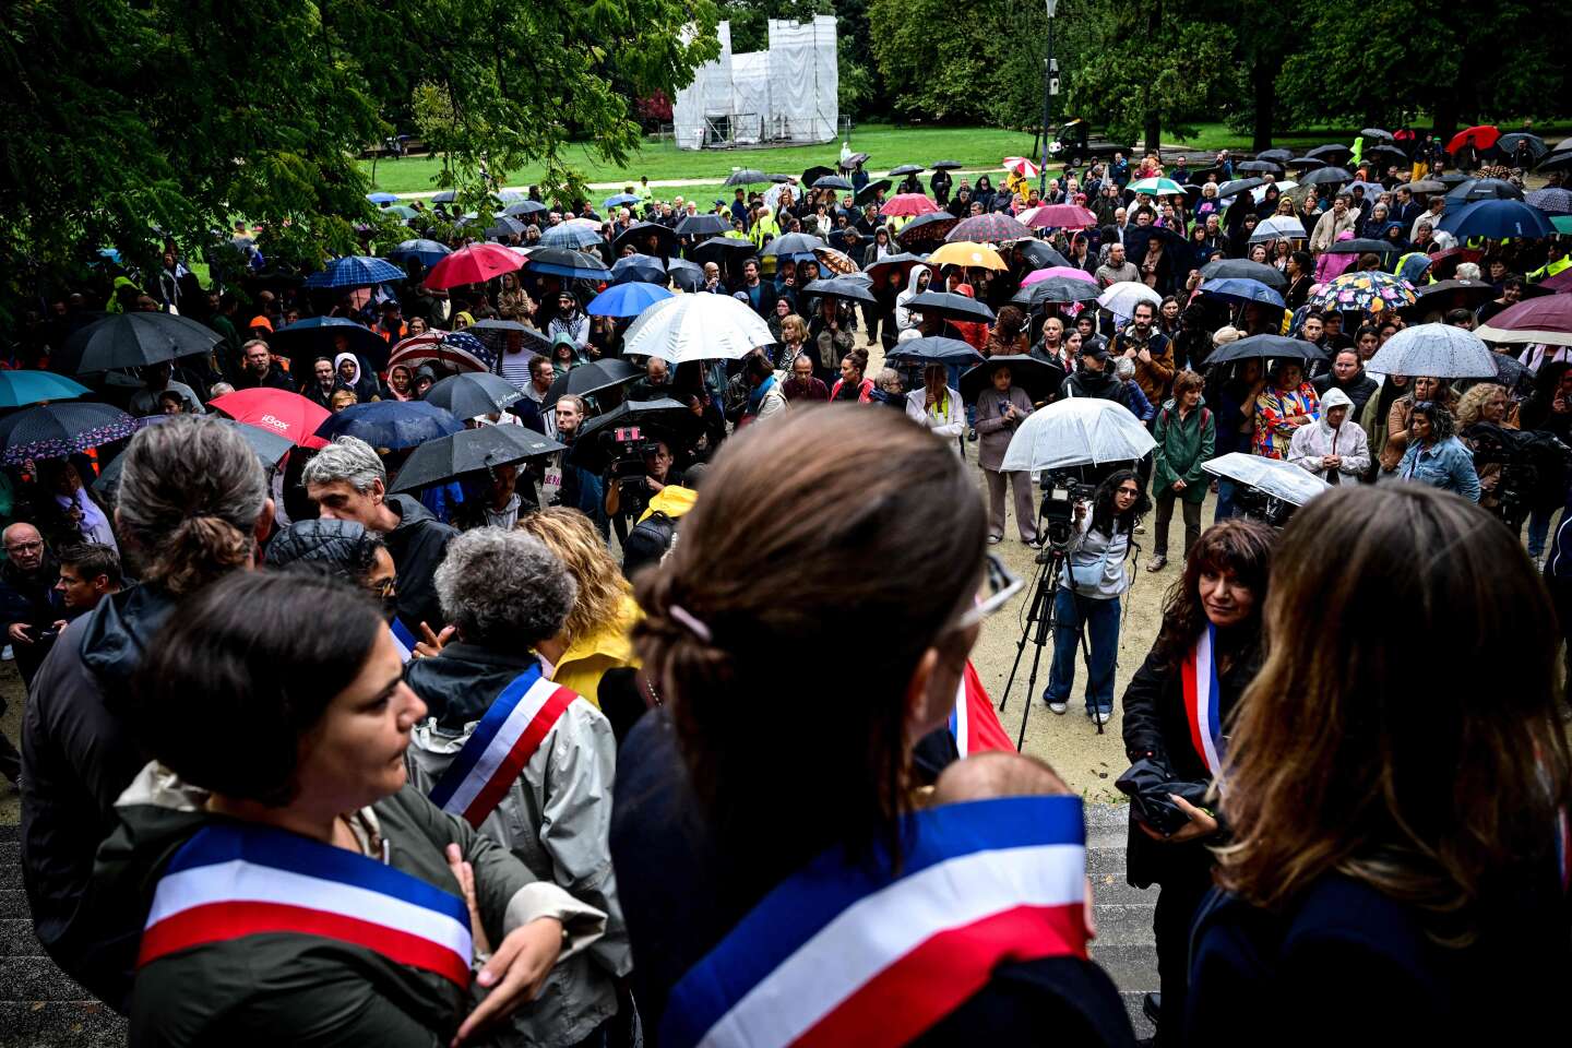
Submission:
[[475,528],[448,545],[437,599],[459,635],[483,647],[533,647],[563,632],[578,586],[533,534]]

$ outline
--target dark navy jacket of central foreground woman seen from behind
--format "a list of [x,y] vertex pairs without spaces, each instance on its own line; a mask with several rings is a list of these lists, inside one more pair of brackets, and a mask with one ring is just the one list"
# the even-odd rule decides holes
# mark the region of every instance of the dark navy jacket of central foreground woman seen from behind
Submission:
[[[761,856],[762,858],[762,856]],[[612,861],[634,941],[645,1043],[659,1045],[667,998],[758,902],[728,874],[685,784],[671,721],[651,710],[618,756]],[[915,1045],[1132,1045],[1118,990],[1094,963],[1006,963]]]

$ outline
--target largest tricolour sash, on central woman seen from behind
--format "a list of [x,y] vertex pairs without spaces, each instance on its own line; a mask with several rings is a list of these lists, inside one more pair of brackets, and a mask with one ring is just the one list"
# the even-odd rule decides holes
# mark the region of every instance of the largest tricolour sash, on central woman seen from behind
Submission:
[[1000,963],[1086,955],[1080,798],[946,804],[902,841],[899,877],[880,847],[777,885],[678,982],[663,1048],[904,1045]]

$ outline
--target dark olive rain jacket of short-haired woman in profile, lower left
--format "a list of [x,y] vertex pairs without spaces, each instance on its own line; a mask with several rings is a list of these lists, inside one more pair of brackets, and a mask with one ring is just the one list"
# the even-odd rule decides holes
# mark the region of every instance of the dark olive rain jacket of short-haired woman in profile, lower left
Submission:
[[[119,828],[94,870],[93,908],[127,916],[140,930],[159,878],[192,836],[230,820],[204,811],[208,795],[159,764],[146,765],[119,798]],[[457,896],[445,848],[457,844],[475,869],[475,896],[495,947],[517,927],[556,918],[567,932],[541,999],[514,1013],[514,1029],[550,1006],[552,979],[605,927],[605,914],[561,888],[539,883],[522,863],[468,823],[445,815],[406,786],[355,812],[369,855]],[[380,848],[379,848],[380,845]],[[167,954],[137,973],[134,1045],[446,1045],[479,995],[435,973],[358,944],[294,932],[222,940]],[[506,1042],[511,1031],[498,1040]]]

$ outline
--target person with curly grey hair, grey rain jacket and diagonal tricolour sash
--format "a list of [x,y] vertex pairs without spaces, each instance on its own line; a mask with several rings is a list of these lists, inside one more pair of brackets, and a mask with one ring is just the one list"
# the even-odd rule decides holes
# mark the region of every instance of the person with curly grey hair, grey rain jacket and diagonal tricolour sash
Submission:
[[610,848],[616,740],[601,710],[549,679],[544,657],[561,658],[552,641],[577,586],[544,542],[501,528],[454,539],[435,583],[456,636],[406,672],[431,713],[410,732],[410,779],[539,880],[605,911],[605,936],[558,963],[512,1020],[527,1043],[577,1045],[616,1015],[615,980],[632,969]]

